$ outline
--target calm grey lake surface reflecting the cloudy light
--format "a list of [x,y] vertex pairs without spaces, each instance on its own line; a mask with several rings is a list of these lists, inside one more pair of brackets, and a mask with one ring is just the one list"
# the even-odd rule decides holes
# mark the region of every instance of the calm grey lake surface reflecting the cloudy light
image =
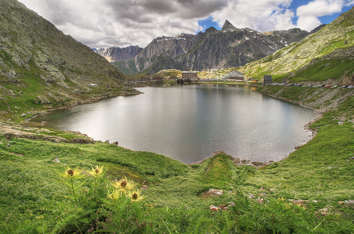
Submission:
[[312,132],[303,126],[317,116],[314,110],[243,85],[136,89],[144,94],[76,105],[34,121],[192,164],[218,150],[252,161],[279,161],[311,139]]

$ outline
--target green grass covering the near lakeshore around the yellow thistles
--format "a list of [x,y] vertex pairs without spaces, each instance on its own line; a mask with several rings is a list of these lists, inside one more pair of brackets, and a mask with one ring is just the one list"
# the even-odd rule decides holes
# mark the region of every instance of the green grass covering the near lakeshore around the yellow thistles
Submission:
[[[325,90],[280,88],[267,86],[258,90],[294,101],[303,101],[306,96]],[[348,94],[346,92],[343,90],[342,94],[337,95],[341,97]],[[73,223],[85,232],[90,225],[103,230],[103,224],[112,230],[118,230],[119,225],[123,225],[119,229],[121,232],[139,227],[142,228],[139,230],[150,233],[165,233],[167,228],[171,232],[181,233],[195,233],[195,230],[198,230],[197,233],[230,230],[239,233],[269,233],[273,230],[307,233],[319,224],[314,233],[352,230],[350,220],[353,211],[337,205],[337,201],[354,199],[351,173],[354,161],[346,161],[354,153],[354,128],[353,122],[350,122],[353,120],[353,106],[354,98],[348,98],[337,108],[326,112],[312,125],[318,130],[314,139],[288,158],[261,170],[252,166],[236,167],[226,154],[188,166],[163,155],[134,152],[115,144],[58,144],[20,138],[8,140],[0,135],[0,226],[11,233],[69,233],[70,229],[77,230]],[[345,119],[342,125],[338,125],[339,118]],[[71,136],[71,133],[52,131],[57,135]],[[55,157],[61,162],[53,162]],[[143,191],[146,198],[139,205],[122,200],[122,204],[130,207],[125,211],[115,210],[116,205],[105,205],[99,199],[92,200],[90,206],[80,203],[82,208],[77,213],[73,201],[65,198],[67,188],[57,183],[56,172],[64,170],[63,164],[86,170],[97,164],[103,165],[109,179],[126,176],[139,184],[148,185],[148,189]],[[82,194],[96,188],[92,185],[93,178],[88,178],[80,190]],[[244,198],[246,193],[257,196],[261,186],[275,189],[266,191],[268,205],[258,205]],[[209,188],[224,189],[224,194],[201,199],[198,195]],[[87,199],[95,196],[90,195]],[[318,202],[310,202],[308,209],[303,210],[291,206],[289,202],[277,200],[278,197]],[[210,205],[231,201],[236,204],[235,208],[230,208],[231,212],[212,214],[209,211]],[[326,205],[334,206],[333,211],[342,215],[317,218],[314,212]],[[152,210],[149,206],[155,208]],[[36,218],[41,216],[43,218]],[[58,217],[61,219],[58,220]],[[95,221],[96,218],[98,221]],[[110,219],[112,221],[108,222]],[[122,222],[123,219],[131,221]]]

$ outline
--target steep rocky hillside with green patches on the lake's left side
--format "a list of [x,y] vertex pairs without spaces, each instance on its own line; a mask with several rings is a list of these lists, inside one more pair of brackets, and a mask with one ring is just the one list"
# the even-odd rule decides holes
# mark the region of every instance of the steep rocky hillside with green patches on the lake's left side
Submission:
[[126,92],[126,75],[16,0],[0,0],[0,40],[0,115]]

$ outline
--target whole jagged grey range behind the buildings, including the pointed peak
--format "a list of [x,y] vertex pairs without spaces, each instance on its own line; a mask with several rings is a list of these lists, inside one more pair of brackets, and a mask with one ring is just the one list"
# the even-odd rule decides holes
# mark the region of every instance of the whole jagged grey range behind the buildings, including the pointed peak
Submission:
[[[308,34],[309,32],[298,28],[260,33],[249,28],[238,29],[226,20],[221,30],[210,27],[205,33],[199,32],[196,35],[180,34],[176,37],[155,38],[132,61],[114,65],[125,74],[136,71],[151,74],[159,68],[202,70],[235,67],[271,55]],[[163,54],[166,56],[157,61]],[[133,68],[133,63],[136,69]],[[163,64],[166,65],[165,68]],[[173,64],[175,67],[171,67]]]

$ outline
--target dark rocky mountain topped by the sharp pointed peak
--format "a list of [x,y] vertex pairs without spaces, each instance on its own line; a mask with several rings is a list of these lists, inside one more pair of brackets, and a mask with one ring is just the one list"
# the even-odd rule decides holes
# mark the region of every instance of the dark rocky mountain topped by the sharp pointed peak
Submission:
[[307,31],[298,28],[269,33],[238,29],[226,20],[221,30],[207,29],[178,62],[193,70],[236,67],[271,55],[306,35]]

